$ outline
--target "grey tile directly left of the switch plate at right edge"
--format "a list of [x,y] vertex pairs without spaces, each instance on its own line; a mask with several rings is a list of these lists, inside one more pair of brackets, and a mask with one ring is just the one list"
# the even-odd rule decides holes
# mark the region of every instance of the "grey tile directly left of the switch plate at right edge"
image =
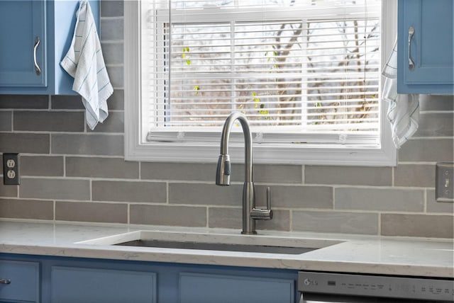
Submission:
[[394,168],[394,185],[433,188],[435,165],[399,164]]

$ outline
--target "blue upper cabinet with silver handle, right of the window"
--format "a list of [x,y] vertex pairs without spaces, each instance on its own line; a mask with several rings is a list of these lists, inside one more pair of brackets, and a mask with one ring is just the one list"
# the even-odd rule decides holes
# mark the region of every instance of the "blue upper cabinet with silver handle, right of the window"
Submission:
[[453,0],[399,0],[399,93],[454,93]]

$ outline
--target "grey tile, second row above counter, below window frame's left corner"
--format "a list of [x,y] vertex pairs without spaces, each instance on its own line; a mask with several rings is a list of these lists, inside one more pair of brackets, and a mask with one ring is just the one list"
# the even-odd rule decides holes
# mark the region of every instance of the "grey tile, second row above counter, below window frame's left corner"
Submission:
[[94,201],[166,202],[166,186],[162,182],[92,181]]

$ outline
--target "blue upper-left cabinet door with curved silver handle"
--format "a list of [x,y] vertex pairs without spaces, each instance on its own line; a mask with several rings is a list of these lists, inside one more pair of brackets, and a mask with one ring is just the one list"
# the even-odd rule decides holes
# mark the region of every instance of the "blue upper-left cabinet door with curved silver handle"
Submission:
[[0,91],[47,85],[45,19],[43,0],[0,1]]

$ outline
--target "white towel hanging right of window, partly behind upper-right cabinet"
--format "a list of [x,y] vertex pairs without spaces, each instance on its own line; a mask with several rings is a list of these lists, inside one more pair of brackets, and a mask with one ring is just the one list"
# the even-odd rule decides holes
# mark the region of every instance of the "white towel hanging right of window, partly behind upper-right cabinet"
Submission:
[[419,95],[397,93],[397,40],[382,75],[382,98],[389,103],[387,118],[391,123],[392,140],[399,149],[418,130]]

